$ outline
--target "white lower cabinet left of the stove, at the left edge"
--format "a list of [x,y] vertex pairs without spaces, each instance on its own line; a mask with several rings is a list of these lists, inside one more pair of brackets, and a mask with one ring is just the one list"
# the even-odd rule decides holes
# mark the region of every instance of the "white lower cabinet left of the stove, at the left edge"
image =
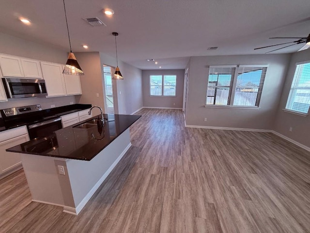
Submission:
[[20,154],[5,150],[27,141],[29,136],[26,126],[0,132],[0,178],[21,168]]

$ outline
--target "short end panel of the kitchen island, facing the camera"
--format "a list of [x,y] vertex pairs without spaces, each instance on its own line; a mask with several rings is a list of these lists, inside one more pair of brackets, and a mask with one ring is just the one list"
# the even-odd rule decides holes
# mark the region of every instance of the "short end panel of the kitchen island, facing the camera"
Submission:
[[54,158],[21,154],[32,201],[63,206]]

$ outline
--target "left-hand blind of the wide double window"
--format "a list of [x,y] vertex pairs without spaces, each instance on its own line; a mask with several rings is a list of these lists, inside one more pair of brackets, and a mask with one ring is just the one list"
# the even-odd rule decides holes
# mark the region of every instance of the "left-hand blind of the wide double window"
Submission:
[[235,69],[235,66],[209,67],[206,104],[230,104]]

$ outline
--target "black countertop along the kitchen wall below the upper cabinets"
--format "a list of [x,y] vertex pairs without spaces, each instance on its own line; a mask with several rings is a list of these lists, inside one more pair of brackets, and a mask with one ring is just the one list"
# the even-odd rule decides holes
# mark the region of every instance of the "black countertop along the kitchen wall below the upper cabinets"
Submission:
[[[33,116],[42,116],[42,117],[53,116],[53,115],[63,116],[66,114],[85,110],[91,107],[92,107],[92,104],[78,104],[77,103],[77,104],[56,107],[56,108],[45,109],[45,110],[35,112],[35,113],[28,113],[28,114],[23,115],[23,117],[25,118],[25,121],[29,123],[31,122],[31,118]],[[0,117],[0,132],[14,129],[14,128],[24,126],[24,125],[27,125],[27,123],[21,123],[19,120],[16,121],[14,119],[11,120],[9,123],[5,124],[3,119]]]

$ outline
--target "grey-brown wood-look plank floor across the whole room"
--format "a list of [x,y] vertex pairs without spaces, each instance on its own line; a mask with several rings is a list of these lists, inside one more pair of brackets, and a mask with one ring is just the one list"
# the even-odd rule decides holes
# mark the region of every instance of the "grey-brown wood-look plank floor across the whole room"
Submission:
[[0,181],[0,232],[310,232],[310,153],[272,133],[185,128],[143,109],[132,147],[78,216],[31,202],[22,170]]

